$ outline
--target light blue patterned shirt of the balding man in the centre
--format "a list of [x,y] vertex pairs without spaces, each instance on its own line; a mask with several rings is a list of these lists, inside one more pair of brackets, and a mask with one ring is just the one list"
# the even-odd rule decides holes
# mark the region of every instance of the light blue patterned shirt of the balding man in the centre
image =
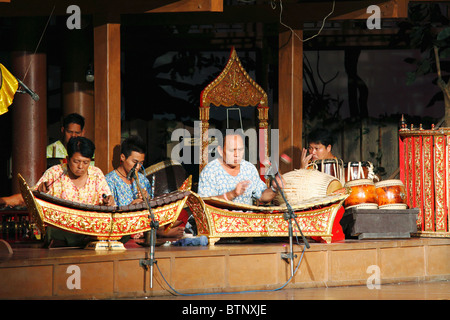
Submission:
[[234,190],[239,182],[245,180],[250,181],[250,185],[244,194],[236,197],[233,202],[251,205],[252,197],[261,198],[263,191],[267,188],[256,167],[250,162],[242,160],[239,174],[233,177],[225,171],[220,164],[220,160],[215,159],[208,163],[200,173],[198,194],[201,197],[220,196],[225,192]]

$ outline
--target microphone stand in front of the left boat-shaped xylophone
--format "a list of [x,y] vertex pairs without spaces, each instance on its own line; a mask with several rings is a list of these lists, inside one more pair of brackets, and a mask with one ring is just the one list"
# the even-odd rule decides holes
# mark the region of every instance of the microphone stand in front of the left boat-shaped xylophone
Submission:
[[[131,178],[136,177],[136,186],[139,190],[139,192],[142,195],[142,198],[145,200],[145,205],[147,207],[147,210],[149,212],[149,220],[150,220],[150,245],[149,245],[149,252],[146,253],[145,259],[139,260],[139,266],[144,267],[147,269],[147,266],[150,266],[150,289],[153,288],[153,265],[156,263],[155,260],[155,246],[156,246],[156,230],[159,228],[159,221],[155,220],[155,215],[153,214],[152,207],[150,205],[149,197],[145,197],[144,193],[142,192],[141,185],[139,184],[139,177],[138,174],[136,174],[135,169],[131,169]],[[149,242],[147,241],[147,236],[145,237],[145,244],[148,245]],[[150,257],[149,257],[150,256]]]

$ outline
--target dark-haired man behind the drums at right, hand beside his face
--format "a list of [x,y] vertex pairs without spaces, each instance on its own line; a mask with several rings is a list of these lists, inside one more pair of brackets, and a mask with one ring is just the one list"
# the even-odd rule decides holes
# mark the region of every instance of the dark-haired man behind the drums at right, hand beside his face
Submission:
[[[305,169],[310,162],[322,159],[335,159],[331,149],[334,137],[326,129],[315,129],[308,135],[308,150],[303,148],[300,168]],[[309,152],[309,154],[307,154]]]

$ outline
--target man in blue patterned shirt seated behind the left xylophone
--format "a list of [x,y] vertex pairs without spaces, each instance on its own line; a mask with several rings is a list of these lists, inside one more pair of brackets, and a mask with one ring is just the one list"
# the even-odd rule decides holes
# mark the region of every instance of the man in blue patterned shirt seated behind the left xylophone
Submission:
[[[115,170],[106,175],[106,181],[118,206],[140,203],[144,201],[144,197],[152,197],[150,182],[139,172],[145,160],[145,152],[145,142],[138,136],[130,136],[122,142],[120,164]],[[139,185],[144,193],[143,195],[137,187],[137,181],[134,175],[128,179],[129,173],[135,165],[135,173],[138,175]],[[187,217],[185,220],[187,222]],[[183,236],[186,222],[183,224],[181,220],[176,221],[173,227],[167,232],[164,231],[164,228],[159,228],[157,235],[159,237],[178,239]]]

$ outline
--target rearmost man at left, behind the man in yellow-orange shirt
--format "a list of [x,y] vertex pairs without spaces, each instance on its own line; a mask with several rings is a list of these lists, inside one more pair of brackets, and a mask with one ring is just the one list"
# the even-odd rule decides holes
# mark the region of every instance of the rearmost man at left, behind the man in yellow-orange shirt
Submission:
[[71,113],[64,117],[61,127],[62,139],[47,146],[47,159],[66,159],[67,142],[69,142],[72,137],[84,136],[84,123],[84,117],[78,113]]

